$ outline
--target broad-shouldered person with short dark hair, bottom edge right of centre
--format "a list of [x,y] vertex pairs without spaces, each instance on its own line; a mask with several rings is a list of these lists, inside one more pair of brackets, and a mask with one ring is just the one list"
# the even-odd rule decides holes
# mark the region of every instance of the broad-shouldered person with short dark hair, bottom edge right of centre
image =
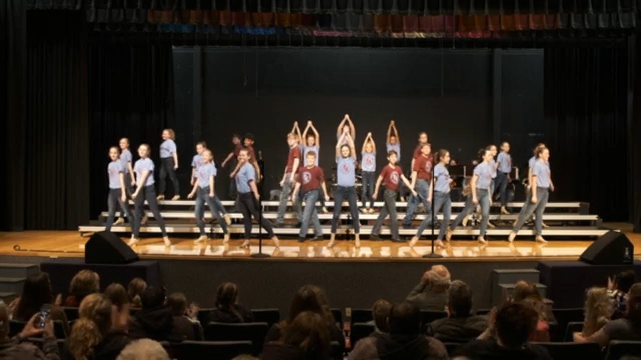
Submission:
[[447,359],[444,345],[424,336],[421,331],[420,310],[404,302],[390,309],[389,334],[375,334],[356,343],[348,359],[401,360]]

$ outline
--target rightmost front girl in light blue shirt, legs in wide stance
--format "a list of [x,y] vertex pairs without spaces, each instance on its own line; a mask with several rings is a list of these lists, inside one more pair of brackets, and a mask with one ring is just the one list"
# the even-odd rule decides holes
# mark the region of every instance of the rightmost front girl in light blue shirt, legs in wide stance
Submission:
[[514,241],[514,238],[516,238],[520,228],[533,213],[536,213],[534,221],[536,230],[535,241],[537,241],[537,243],[547,243],[543,238],[543,213],[547,205],[549,192],[554,191],[549,164],[550,151],[546,147],[538,147],[536,158],[537,160],[531,172],[531,195],[524,206],[525,211],[519,214],[519,220],[514,229],[512,229],[512,233],[510,233],[508,241],[511,243]]

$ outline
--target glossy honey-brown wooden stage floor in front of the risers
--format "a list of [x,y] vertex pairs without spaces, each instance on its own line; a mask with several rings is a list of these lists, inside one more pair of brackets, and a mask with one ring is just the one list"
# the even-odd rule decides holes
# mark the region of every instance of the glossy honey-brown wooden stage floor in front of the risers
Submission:
[[[631,233],[626,224],[610,224],[610,228],[622,229],[635,245],[635,258],[641,258],[641,234]],[[518,238],[517,238],[518,239]],[[77,231],[24,231],[0,233],[0,256],[38,256],[46,258],[83,258],[84,245],[88,238],[81,238]],[[127,241],[128,238],[123,238]],[[173,245],[165,247],[160,238],[144,238],[135,247],[143,259],[184,260],[240,260],[251,261],[250,254],[258,252],[258,240],[253,240],[251,249],[240,249],[242,240],[231,240],[228,245],[222,240],[194,244],[194,238],[172,238]],[[554,240],[542,245],[528,240],[510,244],[506,239],[489,239],[488,245],[472,240],[453,240],[447,248],[437,249],[444,259],[440,261],[541,261],[576,260],[594,241]],[[298,243],[297,240],[281,240],[276,249],[269,240],[263,241],[263,252],[273,258],[294,261],[424,261],[429,254],[429,241],[419,241],[410,248],[407,243],[362,240],[360,249],[353,241],[337,241],[333,249],[326,248],[327,240]],[[19,250],[17,250],[19,249]]]

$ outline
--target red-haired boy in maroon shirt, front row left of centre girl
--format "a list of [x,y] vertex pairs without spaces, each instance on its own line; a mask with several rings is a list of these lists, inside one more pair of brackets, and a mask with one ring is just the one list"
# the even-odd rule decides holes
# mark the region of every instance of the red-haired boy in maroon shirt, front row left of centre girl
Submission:
[[314,238],[312,241],[322,240],[322,227],[320,227],[319,214],[316,210],[316,201],[320,197],[319,188],[322,189],[322,197],[329,201],[327,195],[327,188],[325,186],[325,176],[322,168],[319,168],[316,163],[316,153],[308,151],[305,160],[307,166],[302,167],[296,177],[296,186],[292,193],[292,202],[297,201],[298,190],[303,194],[305,202],[305,209],[301,220],[301,232],[298,235],[298,242],[303,243],[307,237],[307,229],[310,227],[310,222],[314,225]]

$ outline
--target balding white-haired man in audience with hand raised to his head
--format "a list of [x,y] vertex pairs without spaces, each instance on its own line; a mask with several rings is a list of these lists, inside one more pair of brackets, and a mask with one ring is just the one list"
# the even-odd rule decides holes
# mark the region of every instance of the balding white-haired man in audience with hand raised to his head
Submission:
[[444,311],[447,304],[447,288],[450,275],[443,265],[434,265],[423,274],[420,282],[405,299],[421,310]]

